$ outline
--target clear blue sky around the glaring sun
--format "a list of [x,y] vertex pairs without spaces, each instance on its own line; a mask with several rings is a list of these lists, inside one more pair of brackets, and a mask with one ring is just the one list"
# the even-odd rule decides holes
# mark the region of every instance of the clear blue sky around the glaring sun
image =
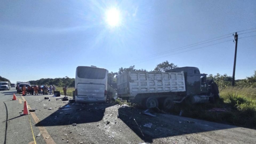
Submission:
[[163,61],[232,76],[234,32],[242,79],[256,70],[256,1],[0,0],[0,76],[75,78],[77,66],[150,71]]

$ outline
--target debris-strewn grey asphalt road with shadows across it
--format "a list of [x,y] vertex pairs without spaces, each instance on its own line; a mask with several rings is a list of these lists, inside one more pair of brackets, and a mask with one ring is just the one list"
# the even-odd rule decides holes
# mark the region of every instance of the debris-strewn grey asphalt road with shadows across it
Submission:
[[[162,113],[151,117],[112,104],[63,103],[53,95],[49,101],[17,94],[12,101],[13,93],[0,91],[0,143],[256,143],[253,129]],[[20,115],[24,101],[35,112]]]

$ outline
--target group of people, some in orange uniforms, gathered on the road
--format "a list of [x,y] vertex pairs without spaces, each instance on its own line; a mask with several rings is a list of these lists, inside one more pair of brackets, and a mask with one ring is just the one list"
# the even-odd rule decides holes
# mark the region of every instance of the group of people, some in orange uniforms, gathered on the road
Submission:
[[48,94],[48,93],[53,94],[53,91],[56,90],[56,87],[54,85],[53,86],[50,85],[50,87],[48,87],[47,85],[43,85],[42,87],[35,85],[35,86],[28,86],[26,88],[26,86],[23,85],[23,87],[20,88],[17,85],[16,90],[17,90],[17,93],[19,93],[19,91],[22,90],[25,93],[25,95],[26,95],[26,92],[28,92],[31,95],[34,95],[34,93],[35,93],[35,95]]

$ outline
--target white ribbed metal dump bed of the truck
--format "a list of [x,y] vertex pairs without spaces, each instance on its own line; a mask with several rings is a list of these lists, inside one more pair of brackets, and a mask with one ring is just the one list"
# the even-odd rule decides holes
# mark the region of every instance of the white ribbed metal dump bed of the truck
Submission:
[[135,97],[142,93],[186,91],[184,73],[128,72],[117,77],[118,94]]

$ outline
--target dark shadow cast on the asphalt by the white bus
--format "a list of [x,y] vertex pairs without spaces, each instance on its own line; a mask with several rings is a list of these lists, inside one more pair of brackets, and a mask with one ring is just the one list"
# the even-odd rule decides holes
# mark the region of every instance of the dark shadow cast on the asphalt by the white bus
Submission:
[[58,109],[36,126],[58,126],[58,125],[72,125],[73,123],[90,123],[101,121],[105,109],[113,106],[112,104],[78,104],[68,103],[63,108]]

